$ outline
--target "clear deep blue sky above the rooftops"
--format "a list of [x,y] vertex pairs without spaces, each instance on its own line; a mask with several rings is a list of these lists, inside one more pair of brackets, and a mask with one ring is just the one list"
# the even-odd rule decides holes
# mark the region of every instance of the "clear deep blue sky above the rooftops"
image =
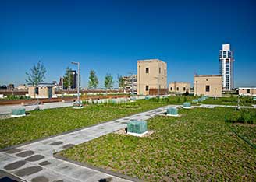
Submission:
[[256,86],[256,1],[0,1],[0,85],[25,83],[41,60],[45,82],[80,61],[82,86],[94,69],[137,72],[137,60],[168,63],[168,82],[219,74],[219,49],[235,53],[235,86]]

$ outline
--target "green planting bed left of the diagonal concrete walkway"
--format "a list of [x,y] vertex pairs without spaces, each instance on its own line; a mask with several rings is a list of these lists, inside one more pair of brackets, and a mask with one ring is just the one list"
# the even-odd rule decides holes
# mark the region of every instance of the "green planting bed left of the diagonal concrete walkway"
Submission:
[[72,107],[31,111],[26,117],[0,120],[0,149],[84,128],[120,117],[162,107],[165,103],[137,100],[136,103],[90,105],[81,110]]

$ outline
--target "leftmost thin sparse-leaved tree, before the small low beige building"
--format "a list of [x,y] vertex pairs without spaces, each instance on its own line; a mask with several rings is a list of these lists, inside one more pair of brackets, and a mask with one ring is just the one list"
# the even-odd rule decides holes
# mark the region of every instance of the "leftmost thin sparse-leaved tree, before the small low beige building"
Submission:
[[[26,75],[27,75],[26,82],[27,84],[30,84],[31,86],[34,87],[34,97],[36,97],[37,86],[39,85],[39,83],[44,82],[45,73],[46,73],[46,69],[44,68],[44,65],[41,64],[41,61],[38,61],[37,65],[34,65],[30,69],[30,72],[26,72]],[[37,107],[38,107],[38,99],[37,99]]]

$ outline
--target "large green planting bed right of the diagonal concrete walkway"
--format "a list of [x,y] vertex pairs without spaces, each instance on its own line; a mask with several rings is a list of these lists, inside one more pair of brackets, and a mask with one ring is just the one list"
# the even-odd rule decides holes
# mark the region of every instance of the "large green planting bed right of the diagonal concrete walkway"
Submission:
[[256,151],[236,133],[255,145],[256,126],[227,123],[226,114],[234,112],[180,110],[182,117],[150,119],[155,133],[148,138],[112,133],[61,155],[145,181],[255,181]]

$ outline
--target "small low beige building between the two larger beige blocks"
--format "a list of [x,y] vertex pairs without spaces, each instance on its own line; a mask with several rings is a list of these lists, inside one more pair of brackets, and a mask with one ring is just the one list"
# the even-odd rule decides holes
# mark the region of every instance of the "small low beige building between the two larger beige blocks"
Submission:
[[169,93],[190,93],[190,82],[171,82],[169,83]]

